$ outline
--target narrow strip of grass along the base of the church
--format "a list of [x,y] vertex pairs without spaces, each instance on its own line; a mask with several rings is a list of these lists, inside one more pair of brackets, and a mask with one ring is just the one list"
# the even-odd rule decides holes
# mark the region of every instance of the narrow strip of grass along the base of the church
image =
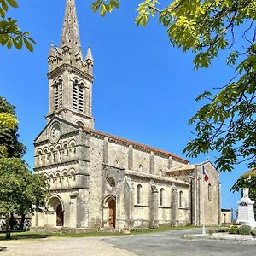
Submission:
[[[131,235],[142,235],[147,233],[156,233],[156,232],[165,232],[169,230],[185,230],[195,228],[195,226],[179,226],[179,227],[159,227],[155,229],[143,229],[143,230],[131,230]],[[100,232],[100,231],[92,231],[86,233],[69,233],[60,231],[58,233],[54,232],[31,232],[31,231],[21,231],[21,232],[12,232],[11,239],[12,240],[22,240],[22,239],[42,239],[42,238],[50,238],[50,237],[96,237],[96,236],[129,236],[125,235],[121,232]],[[0,241],[4,241],[5,233],[0,233]]]

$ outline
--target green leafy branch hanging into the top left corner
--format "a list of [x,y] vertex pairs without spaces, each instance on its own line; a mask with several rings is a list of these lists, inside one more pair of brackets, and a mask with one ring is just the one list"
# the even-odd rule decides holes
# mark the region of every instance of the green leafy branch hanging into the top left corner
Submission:
[[36,42],[30,37],[29,32],[20,31],[17,20],[6,18],[9,7],[17,8],[16,0],[1,0],[0,1],[0,44],[11,49],[14,45],[16,49],[22,49],[23,45],[29,51],[33,51],[33,45]]

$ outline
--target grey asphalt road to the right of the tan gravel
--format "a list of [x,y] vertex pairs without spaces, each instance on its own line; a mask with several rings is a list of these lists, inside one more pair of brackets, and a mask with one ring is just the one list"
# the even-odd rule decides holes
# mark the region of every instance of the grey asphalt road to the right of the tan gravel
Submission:
[[102,239],[102,241],[142,256],[251,256],[255,254],[255,241],[188,240],[181,238],[184,234],[198,232],[200,230],[174,230],[143,236],[109,237]]

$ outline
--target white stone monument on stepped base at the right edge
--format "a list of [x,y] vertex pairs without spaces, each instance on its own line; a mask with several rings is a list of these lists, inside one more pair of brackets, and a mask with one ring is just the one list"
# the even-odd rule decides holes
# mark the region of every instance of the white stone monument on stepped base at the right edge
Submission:
[[249,189],[242,189],[242,198],[237,201],[238,204],[238,214],[237,214],[237,224],[249,225],[253,228],[256,227],[256,222],[254,219],[253,205],[254,201],[249,198]]

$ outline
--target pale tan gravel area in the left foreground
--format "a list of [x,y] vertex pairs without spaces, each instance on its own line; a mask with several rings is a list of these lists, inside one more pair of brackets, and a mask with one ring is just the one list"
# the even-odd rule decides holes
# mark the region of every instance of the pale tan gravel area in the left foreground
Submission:
[[39,240],[0,241],[0,256],[50,256],[50,255],[93,255],[93,256],[134,256],[125,249],[118,249],[102,237],[44,238]]

